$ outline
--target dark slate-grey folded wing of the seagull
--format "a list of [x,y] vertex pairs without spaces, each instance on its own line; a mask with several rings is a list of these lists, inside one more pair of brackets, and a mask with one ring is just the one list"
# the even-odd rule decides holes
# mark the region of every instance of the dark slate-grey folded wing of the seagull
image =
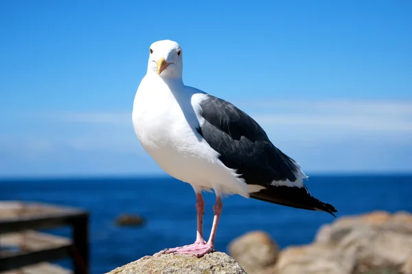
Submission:
[[220,154],[225,166],[235,169],[247,184],[296,181],[295,161],[272,144],[255,120],[228,101],[206,96],[200,103],[205,123],[198,133]]

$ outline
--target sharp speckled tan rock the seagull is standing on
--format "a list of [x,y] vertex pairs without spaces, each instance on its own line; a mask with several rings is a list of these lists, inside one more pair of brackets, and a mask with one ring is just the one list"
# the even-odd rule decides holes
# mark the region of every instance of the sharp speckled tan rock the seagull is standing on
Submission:
[[246,272],[226,253],[215,251],[201,258],[162,252],[144,256],[135,262],[107,274],[245,274]]

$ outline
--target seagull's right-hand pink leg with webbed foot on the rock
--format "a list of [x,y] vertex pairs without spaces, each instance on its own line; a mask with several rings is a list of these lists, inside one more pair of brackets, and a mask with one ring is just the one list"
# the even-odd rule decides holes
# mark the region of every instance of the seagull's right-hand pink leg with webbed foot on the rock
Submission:
[[220,197],[216,197],[216,203],[213,206],[214,210],[214,219],[213,225],[211,225],[211,232],[209,240],[206,244],[197,244],[183,247],[181,249],[174,250],[175,254],[192,254],[196,257],[202,257],[211,251],[214,251],[214,239],[216,236],[216,229],[218,228],[220,213],[222,213],[223,203]]

